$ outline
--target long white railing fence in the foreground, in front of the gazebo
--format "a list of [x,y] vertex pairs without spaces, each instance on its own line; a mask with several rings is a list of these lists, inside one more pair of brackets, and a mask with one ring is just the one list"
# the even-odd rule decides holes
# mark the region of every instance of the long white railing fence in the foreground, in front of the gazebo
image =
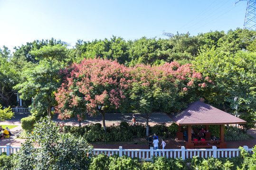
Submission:
[[[248,146],[244,146],[244,149],[253,153],[253,149],[249,149]],[[19,146],[0,146],[0,154],[6,152],[7,155],[11,153],[19,152]],[[216,146],[212,146],[212,149],[185,149],[185,146],[181,146],[181,149],[156,149],[152,147],[150,149],[123,149],[122,146],[119,146],[119,149],[93,149],[92,153],[94,155],[105,154],[108,156],[119,154],[119,156],[127,155],[129,157],[137,157],[144,159],[146,161],[151,161],[152,156],[165,156],[167,158],[192,158],[192,156],[199,157],[214,157],[214,158],[231,158],[236,157],[240,153],[240,149],[217,149]]]

